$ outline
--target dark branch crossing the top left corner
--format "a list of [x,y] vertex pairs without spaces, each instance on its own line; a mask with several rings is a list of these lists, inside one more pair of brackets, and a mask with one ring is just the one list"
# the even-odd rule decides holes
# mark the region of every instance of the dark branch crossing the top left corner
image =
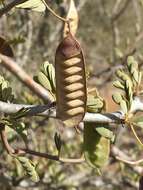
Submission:
[[11,3],[9,3],[8,5],[5,5],[5,7],[0,10],[0,17],[5,15],[6,13],[8,13],[16,5],[18,5],[20,3],[24,3],[25,1],[27,1],[27,0],[14,0]]

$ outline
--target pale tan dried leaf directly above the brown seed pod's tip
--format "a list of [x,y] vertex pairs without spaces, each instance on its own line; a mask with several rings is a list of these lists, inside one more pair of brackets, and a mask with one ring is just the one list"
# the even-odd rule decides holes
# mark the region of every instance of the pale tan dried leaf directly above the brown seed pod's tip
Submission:
[[[70,20],[70,32],[74,36],[78,28],[78,20],[79,20],[74,0],[70,0],[69,11],[66,19]],[[68,32],[69,32],[68,24],[65,23],[63,30],[63,37],[66,37]]]

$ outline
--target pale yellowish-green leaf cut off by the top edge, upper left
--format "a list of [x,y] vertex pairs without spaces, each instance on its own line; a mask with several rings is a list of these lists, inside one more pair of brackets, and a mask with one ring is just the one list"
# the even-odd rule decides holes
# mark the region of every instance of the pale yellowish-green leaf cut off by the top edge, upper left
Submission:
[[28,0],[16,6],[17,8],[30,9],[32,11],[44,12],[46,7],[42,0]]

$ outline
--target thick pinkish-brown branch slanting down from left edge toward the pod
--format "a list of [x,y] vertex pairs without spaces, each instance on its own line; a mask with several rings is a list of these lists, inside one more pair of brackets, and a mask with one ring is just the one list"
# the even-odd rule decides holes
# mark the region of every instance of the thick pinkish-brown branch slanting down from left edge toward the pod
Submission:
[[54,101],[54,97],[51,95],[51,93],[36,83],[21,67],[18,66],[18,64],[13,59],[0,54],[0,63],[44,101]]

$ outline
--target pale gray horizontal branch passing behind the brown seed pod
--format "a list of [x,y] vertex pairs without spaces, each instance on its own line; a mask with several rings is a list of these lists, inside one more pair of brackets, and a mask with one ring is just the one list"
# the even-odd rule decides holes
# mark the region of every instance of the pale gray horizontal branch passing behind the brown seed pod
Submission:
[[[48,116],[56,118],[56,106],[47,105],[23,105],[10,104],[0,101],[0,112],[6,114],[16,113],[21,108],[29,108],[26,116]],[[143,102],[139,98],[135,98],[131,107],[131,112],[143,111]],[[58,119],[58,118],[57,118]],[[83,121],[97,123],[121,123],[124,119],[124,113],[117,111],[113,113],[86,113]]]

